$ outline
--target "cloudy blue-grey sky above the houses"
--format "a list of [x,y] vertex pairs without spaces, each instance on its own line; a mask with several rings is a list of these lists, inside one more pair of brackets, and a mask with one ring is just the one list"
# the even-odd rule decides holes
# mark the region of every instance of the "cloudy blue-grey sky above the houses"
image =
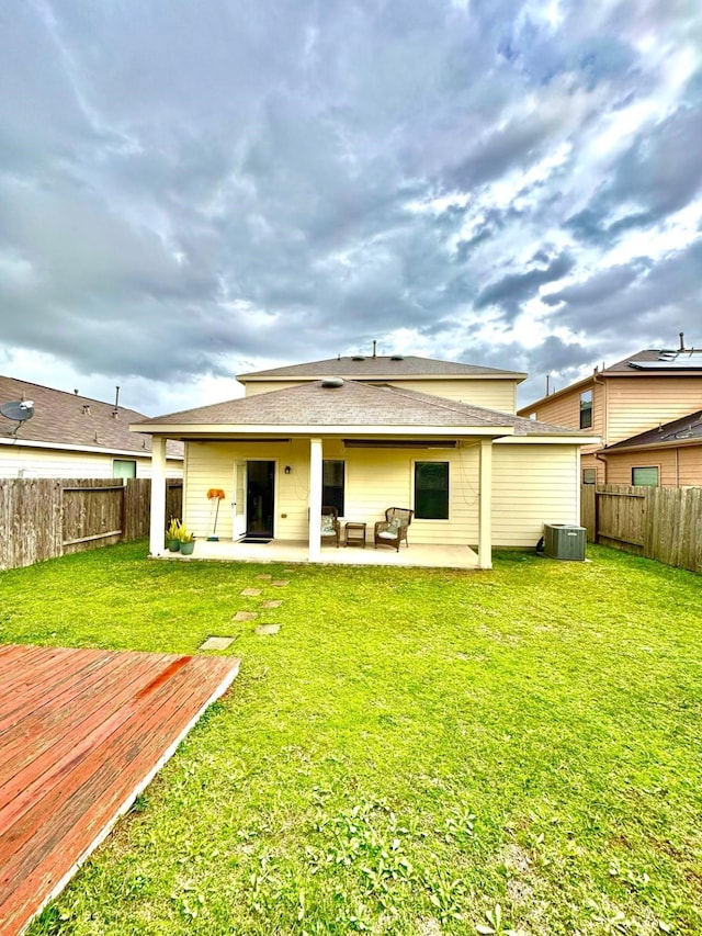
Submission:
[[0,373],[148,415],[702,346],[699,0],[13,0]]

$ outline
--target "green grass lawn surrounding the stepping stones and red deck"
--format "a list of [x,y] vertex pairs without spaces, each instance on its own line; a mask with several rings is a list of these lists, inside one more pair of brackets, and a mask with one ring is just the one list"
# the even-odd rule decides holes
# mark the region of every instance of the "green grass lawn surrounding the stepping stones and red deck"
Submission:
[[0,573],[2,642],[242,659],[32,936],[702,933],[699,576],[145,552]]

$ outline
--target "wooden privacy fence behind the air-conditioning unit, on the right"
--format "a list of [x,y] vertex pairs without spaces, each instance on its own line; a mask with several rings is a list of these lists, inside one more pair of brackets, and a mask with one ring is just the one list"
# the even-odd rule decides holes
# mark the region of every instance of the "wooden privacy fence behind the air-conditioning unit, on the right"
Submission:
[[702,487],[584,484],[580,523],[591,543],[702,572]]

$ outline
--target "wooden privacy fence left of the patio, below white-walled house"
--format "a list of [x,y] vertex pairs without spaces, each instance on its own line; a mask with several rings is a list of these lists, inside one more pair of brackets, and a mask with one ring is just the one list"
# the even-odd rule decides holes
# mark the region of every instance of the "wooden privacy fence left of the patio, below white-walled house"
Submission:
[[[166,516],[182,512],[168,481]],[[149,478],[0,478],[0,570],[148,535]]]

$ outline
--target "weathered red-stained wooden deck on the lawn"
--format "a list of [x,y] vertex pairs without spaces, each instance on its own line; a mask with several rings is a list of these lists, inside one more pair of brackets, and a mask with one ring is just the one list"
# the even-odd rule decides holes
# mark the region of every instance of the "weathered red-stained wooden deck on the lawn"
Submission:
[[0,646],[0,934],[56,896],[239,661]]

